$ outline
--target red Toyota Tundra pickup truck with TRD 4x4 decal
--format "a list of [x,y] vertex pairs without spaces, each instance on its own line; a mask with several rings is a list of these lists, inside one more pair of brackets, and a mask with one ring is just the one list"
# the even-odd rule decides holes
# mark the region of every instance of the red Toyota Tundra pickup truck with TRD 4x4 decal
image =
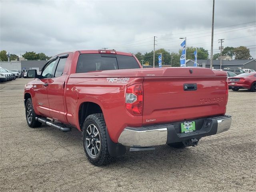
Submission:
[[230,128],[226,72],[208,68],[146,68],[130,53],[66,52],[28,70],[28,126],[42,123],[82,131],[88,160],[97,166],[152,146],[196,146]]

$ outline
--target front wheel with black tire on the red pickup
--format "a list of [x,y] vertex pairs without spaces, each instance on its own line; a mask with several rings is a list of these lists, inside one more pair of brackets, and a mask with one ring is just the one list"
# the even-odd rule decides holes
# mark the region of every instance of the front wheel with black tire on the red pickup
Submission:
[[34,111],[32,99],[28,98],[26,102],[26,120],[27,120],[28,126],[32,128],[36,128],[42,125],[41,122],[36,120],[36,116],[37,115],[35,114],[35,111]]

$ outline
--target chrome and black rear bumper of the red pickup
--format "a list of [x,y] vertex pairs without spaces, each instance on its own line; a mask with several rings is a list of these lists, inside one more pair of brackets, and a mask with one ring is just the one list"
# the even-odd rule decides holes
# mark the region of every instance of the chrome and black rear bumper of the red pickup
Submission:
[[[177,132],[174,124],[161,124],[139,128],[126,127],[120,134],[118,143],[124,146],[146,147],[181,142],[190,138],[202,138],[227,131],[231,126],[232,118],[231,116],[218,116],[202,119],[202,121],[204,121],[202,128],[196,128],[194,132],[189,133]],[[210,127],[206,126],[208,122],[211,124]]]

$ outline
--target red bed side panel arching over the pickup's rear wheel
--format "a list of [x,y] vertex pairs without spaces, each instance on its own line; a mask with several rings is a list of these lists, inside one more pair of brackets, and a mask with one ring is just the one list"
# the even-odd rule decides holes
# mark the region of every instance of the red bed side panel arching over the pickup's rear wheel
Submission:
[[98,104],[103,112],[108,133],[118,142],[126,126],[141,126],[142,116],[132,116],[125,108],[126,87],[142,83],[143,78],[129,78],[128,83],[108,82],[107,78],[69,78],[66,86],[67,119],[80,130],[78,111],[83,102]]

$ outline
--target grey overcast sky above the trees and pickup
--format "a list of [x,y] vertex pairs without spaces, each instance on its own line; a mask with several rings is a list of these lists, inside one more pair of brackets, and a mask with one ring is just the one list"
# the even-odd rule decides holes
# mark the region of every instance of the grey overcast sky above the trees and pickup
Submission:
[[[248,46],[256,58],[256,0],[215,0],[214,53]],[[187,46],[210,52],[212,0],[0,0],[0,50],[54,56],[109,48],[136,53]]]

